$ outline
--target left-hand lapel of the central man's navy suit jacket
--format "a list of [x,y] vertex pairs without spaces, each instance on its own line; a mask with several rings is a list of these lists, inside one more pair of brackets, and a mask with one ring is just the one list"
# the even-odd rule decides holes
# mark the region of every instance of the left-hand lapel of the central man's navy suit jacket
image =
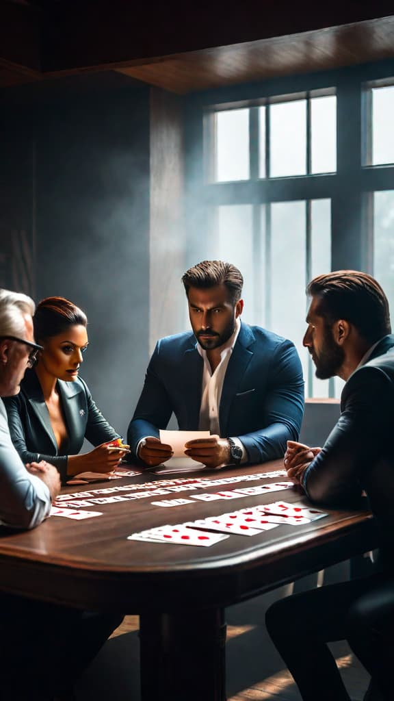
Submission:
[[193,427],[193,429],[198,428],[198,422],[200,421],[203,363],[203,358],[198,353],[197,343],[195,342],[193,348],[185,351],[184,362],[179,364],[180,387],[185,396],[185,426]]

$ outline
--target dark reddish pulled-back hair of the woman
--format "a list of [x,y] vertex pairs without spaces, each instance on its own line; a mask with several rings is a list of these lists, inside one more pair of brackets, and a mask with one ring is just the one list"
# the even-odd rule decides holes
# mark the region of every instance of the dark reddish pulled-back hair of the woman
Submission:
[[63,334],[70,326],[87,326],[86,314],[69,299],[64,297],[46,297],[41,299],[33,316],[34,336],[36,339],[53,338]]

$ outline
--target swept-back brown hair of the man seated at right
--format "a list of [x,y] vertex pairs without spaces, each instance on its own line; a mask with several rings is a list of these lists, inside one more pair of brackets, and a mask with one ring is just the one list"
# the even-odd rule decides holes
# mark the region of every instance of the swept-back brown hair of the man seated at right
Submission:
[[320,299],[318,315],[330,323],[345,319],[369,343],[376,343],[391,333],[386,294],[367,273],[337,270],[318,275],[306,287],[306,294]]

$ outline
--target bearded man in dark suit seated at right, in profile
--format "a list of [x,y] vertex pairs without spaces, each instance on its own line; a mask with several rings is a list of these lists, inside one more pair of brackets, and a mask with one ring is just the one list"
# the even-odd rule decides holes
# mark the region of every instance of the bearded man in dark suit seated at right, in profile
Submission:
[[304,346],[316,376],[346,381],[341,416],[322,449],[289,442],[287,474],[311,501],[351,506],[365,492],[381,535],[369,576],[273,604],[266,624],[304,701],[350,701],[327,642],[347,639],[372,676],[365,701],[393,699],[394,336],[388,301],[366,273],[320,275]]

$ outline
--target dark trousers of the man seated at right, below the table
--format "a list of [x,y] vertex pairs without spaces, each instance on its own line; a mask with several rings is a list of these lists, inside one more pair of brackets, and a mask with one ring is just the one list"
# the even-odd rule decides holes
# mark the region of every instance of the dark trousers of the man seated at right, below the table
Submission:
[[304,701],[350,701],[328,642],[346,639],[393,698],[394,575],[376,574],[294,594],[273,604],[266,625]]

